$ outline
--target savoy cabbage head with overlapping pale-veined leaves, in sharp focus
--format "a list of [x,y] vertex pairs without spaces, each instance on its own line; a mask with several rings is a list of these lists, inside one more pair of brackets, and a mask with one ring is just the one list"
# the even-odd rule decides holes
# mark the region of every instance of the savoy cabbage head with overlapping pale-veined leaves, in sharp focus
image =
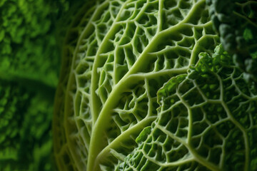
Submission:
[[81,6],[55,100],[59,170],[257,170],[257,89],[213,30],[221,2]]

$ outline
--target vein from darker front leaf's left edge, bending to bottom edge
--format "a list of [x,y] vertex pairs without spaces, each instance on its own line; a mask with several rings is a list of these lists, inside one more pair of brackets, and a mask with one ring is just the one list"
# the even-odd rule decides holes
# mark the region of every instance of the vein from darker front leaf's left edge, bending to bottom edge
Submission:
[[201,165],[207,167],[208,169],[210,170],[213,170],[213,171],[218,171],[221,169],[218,168],[216,165],[213,165],[212,163],[206,161],[203,157],[201,157],[200,155],[197,154],[197,152],[193,149],[193,147],[191,147],[191,145],[189,145],[189,142],[191,142],[191,133],[192,133],[192,113],[191,113],[191,110],[190,110],[190,106],[188,106],[188,104],[183,101],[183,98],[181,97],[181,95],[177,92],[176,93],[178,95],[178,98],[181,100],[181,102],[183,103],[183,105],[186,106],[187,110],[188,110],[188,144],[185,144],[185,146],[188,148],[188,150],[191,152],[191,154],[195,157],[195,160],[197,162],[199,162]]

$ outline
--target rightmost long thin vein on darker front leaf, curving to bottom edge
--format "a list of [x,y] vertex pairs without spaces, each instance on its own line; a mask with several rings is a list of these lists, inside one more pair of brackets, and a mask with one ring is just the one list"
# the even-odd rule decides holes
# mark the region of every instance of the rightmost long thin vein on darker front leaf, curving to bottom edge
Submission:
[[223,105],[223,108],[225,109],[226,113],[228,114],[228,118],[230,118],[232,123],[235,124],[241,130],[241,132],[243,133],[243,140],[244,140],[245,148],[246,148],[246,153],[245,153],[245,155],[246,155],[246,157],[245,157],[246,162],[245,162],[244,170],[247,171],[248,170],[248,165],[250,163],[250,161],[249,161],[250,160],[249,159],[250,152],[249,152],[249,147],[248,147],[249,142],[248,142],[247,133],[246,133],[246,130],[241,126],[241,124],[238,123],[238,121],[235,118],[233,118],[233,115],[232,115],[231,111],[228,109],[228,106],[224,102],[224,100],[223,100],[223,93],[224,93],[223,82],[222,82],[220,76],[218,76],[217,74],[216,74],[216,77],[218,78],[218,81],[220,83],[221,105]]

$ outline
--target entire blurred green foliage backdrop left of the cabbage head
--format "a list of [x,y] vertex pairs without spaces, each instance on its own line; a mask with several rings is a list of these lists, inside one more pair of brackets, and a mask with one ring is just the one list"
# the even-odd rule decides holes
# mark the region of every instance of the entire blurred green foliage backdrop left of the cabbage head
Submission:
[[61,63],[56,42],[70,4],[0,1],[0,171],[54,170],[51,118]]

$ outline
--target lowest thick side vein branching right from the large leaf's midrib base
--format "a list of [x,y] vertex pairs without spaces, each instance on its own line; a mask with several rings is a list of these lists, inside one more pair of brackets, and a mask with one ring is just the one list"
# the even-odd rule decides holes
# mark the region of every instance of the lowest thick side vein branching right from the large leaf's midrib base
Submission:
[[108,155],[111,149],[114,149],[115,147],[119,147],[120,142],[122,142],[122,140],[130,138],[129,135],[131,135],[132,133],[136,133],[136,131],[138,130],[143,130],[144,125],[151,123],[151,121],[155,120],[156,118],[157,116],[150,116],[148,118],[143,118],[143,120],[136,123],[136,125],[133,125],[131,128],[125,130],[123,133],[121,133],[121,135],[119,135],[117,138],[115,138],[115,140],[113,140],[109,145],[107,145],[106,147],[104,147],[103,150],[101,150],[99,155],[97,155],[96,157],[96,163],[99,163],[99,160],[106,157],[106,155]]

